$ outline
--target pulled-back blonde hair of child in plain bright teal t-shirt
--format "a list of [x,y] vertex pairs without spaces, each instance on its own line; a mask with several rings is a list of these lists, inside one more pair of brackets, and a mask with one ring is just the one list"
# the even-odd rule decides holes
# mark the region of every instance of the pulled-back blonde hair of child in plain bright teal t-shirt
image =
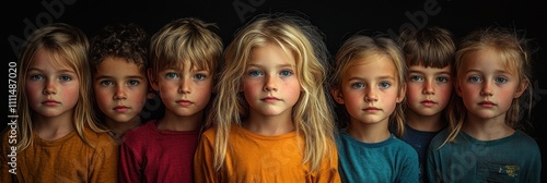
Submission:
[[[404,87],[406,85],[405,76],[407,73],[407,66],[405,64],[405,58],[403,57],[403,52],[393,39],[382,36],[370,37],[361,34],[356,34],[348,38],[335,58],[335,69],[334,73],[330,77],[330,87],[333,89],[341,89],[341,77],[344,73],[353,64],[354,61],[358,61],[362,58],[370,57],[373,54],[385,56],[393,61],[393,64],[397,69],[397,83],[398,83],[398,93],[397,95],[404,96]],[[395,107],[395,111],[389,117],[389,125],[396,127],[396,135],[403,135],[405,131],[404,118],[403,113],[403,102],[399,102]],[[349,122],[348,112],[344,110],[344,114],[341,119],[338,120],[338,123],[341,127],[345,127]]]

